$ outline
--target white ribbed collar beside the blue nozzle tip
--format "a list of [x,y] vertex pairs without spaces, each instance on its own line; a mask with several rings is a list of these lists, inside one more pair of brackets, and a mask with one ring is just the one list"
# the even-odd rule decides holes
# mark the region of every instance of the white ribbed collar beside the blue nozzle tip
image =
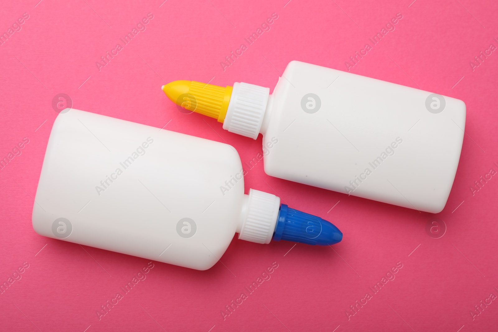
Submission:
[[280,198],[249,189],[249,199],[246,204],[239,238],[256,243],[270,243],[280,209]]

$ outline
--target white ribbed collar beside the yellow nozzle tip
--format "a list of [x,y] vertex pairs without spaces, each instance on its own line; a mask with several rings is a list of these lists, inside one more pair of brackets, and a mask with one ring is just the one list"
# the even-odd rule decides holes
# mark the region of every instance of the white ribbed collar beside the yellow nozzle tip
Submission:
[[234,83],[223,129],[256,139],[269,95],[269,88],[249,83]]

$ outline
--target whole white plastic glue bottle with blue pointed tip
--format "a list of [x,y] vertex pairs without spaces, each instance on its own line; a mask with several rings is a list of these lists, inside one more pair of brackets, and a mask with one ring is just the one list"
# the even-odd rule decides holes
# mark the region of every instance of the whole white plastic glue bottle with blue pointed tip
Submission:
[[32,221],[40,235],[198,270],[236,232],[257,243],[342,239],[275,195],[245,195],[228,144],[74,109],[52,127]]

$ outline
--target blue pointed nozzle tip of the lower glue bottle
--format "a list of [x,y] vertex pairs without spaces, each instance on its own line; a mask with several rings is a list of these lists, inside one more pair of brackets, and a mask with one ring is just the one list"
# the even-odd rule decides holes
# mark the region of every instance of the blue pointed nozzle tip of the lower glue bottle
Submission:
[[285,204],[280,205],[273,240],[287,240],[311,245],[330,245],[341,242],[342,232],[334,224]]

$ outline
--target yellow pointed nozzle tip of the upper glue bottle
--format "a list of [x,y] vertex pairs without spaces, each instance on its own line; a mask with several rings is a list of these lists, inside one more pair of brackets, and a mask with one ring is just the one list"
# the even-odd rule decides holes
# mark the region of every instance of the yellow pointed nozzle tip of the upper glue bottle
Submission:
[[226,88],[195,81],[173,81],[161,87],[176,105],[197,113],[225,120],[232,87]]

